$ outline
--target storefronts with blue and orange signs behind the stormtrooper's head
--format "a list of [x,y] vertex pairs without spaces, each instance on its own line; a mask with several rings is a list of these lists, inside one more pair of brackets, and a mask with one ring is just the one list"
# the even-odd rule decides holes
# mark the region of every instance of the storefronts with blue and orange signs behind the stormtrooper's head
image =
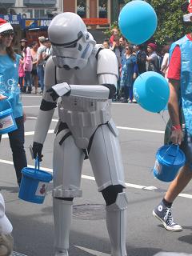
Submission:
[[[14,26],[14,50],[20,51],[21,38],[29,43],[41,35],[47,37],[47,28],[54,15],[63,11],[77,13],[93,34],[102,34],[110,23],[118,20],[118,0],[1,0],[0,17]],[[100,31],[100,32],[99,32]],[[102,40],[102,39],[101,39]],[[100,41],[101,41],[100,40]]]

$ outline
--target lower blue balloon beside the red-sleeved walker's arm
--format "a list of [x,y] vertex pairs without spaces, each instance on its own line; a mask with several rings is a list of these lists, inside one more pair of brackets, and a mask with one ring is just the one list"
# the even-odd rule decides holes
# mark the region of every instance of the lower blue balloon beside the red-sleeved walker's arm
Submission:
[[142,73],[134,81],[134,98],[145,110],[160,112],[166,107],[169,97],[168,82],[157,72]]

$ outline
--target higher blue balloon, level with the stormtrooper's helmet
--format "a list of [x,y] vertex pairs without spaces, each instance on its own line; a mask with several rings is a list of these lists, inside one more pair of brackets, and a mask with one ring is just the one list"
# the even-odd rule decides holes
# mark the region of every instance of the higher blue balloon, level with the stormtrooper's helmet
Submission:
[[149,3],[135,0],[124,6],[118,17],[119,28],[124,37],[134,44],[146,42],[158,26],[158,18]]

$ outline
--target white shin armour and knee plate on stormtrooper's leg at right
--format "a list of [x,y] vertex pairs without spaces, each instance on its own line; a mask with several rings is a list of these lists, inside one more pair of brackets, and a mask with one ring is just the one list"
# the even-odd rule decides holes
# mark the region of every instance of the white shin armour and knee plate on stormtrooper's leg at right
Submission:
[[111,255],[126,256],[126,193],[118,193],[116,202],[106,206],[106,226],[110,236]]

